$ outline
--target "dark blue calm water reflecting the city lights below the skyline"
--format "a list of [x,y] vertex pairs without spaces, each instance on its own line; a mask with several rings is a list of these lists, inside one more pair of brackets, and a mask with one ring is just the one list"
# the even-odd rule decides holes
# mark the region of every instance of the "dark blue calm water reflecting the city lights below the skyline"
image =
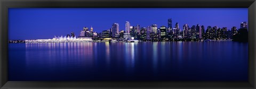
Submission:
[[248,43],[9,44],[9,81],[247,81]]

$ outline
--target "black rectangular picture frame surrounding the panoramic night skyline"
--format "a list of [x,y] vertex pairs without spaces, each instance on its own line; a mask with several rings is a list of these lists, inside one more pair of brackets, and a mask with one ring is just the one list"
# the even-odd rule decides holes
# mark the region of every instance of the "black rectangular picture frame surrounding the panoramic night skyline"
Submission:
[[[256,88],[255,0],[0,0],[0,87],[5,88]],[[139,8],[248,8],[249,78],[247,82],[42,82],[8,81],[8,8],[139,7]]]

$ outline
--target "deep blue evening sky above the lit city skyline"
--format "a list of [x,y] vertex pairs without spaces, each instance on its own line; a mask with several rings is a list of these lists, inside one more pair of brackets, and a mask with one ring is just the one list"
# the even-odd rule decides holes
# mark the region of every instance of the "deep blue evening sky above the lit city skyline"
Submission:
[[200,24],[218,28],[232,26],[240,28],[241,22],[248,22],[247,8],[9,8],[9,39],[52,39],[54,35],[65,36],[79,32],[86,27],[93,31],[108,30],[113,23],[119,23],[119,31],[125,30],[125,21],[132,26],[151,24],[172,26],[179,23]]

